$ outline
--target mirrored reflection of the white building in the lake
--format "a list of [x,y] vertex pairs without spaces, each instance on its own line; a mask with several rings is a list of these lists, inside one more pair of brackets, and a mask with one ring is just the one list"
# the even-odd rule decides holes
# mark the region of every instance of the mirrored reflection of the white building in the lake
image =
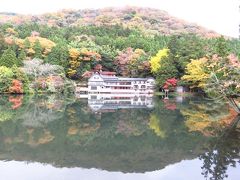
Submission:
[[116,109],[153,108],[152,94],[88,94],[80,95],[88,98],[88,106],[92,111],[109,112]]

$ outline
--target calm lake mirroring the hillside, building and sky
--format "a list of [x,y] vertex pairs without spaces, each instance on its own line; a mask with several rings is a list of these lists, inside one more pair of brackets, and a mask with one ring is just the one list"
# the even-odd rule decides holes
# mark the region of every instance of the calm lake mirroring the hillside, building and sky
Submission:
[[239,180],[235,115],[194,96],[2,95],[1,180]]

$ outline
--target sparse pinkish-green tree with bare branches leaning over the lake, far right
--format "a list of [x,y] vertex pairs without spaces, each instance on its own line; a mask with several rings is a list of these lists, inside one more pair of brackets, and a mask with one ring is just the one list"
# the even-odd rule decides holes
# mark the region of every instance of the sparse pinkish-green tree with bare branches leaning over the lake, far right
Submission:
[[240,61],[235,55],[215,57],[210,68],[206,92],[212,97],[227,99],[240,114]]

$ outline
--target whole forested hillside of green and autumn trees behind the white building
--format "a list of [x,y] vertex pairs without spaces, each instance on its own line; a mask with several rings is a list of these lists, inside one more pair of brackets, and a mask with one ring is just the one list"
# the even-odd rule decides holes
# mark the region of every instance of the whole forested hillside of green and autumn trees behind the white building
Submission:
[[159,87],[175,78],[203,88],[211,74],[203,65],[212,66],[214,58],[239,64],[239,40],[216,37],[160,10],[3,13],[0,22],[0,92],[4,93],[62,92],[63,81],[81,81],[86,72],[100,69],[126,77],[153,76]]

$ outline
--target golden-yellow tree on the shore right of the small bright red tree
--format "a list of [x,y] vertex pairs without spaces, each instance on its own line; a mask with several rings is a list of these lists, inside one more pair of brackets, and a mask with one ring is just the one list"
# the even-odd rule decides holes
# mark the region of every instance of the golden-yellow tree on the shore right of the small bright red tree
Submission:
[[192,88],[204,88],[206,86],[206,81],[210,76],[205,69],[207,61],[208,59],[205,57],[197,60],[191,60],[186,67],[186,75],[182,77],[182,80],[189,82],[192,85]]

